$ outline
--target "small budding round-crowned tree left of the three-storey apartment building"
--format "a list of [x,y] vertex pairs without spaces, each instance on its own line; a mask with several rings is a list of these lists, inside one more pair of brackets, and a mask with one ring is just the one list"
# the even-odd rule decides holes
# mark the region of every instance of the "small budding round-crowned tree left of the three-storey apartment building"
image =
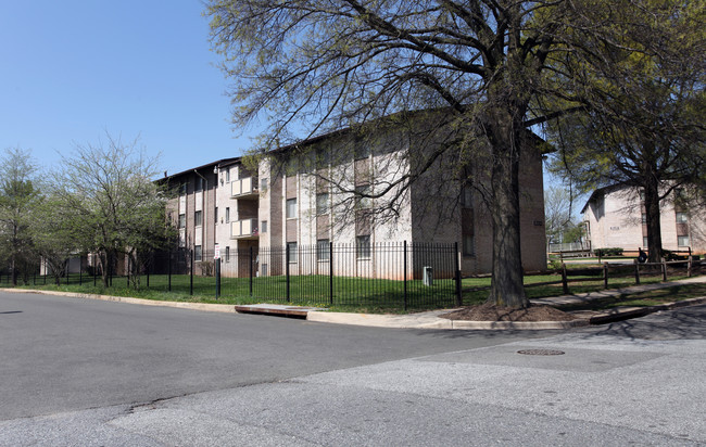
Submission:
[[76,144],[54,174],[60,232],[79,241],[80,252],[98,254],[104,286],[118,256],[127,256],[125,268],[139,286],[138,255],[164,241],[165,196],[151,181],[155,165],[136,140],[106,133],[97,144]]

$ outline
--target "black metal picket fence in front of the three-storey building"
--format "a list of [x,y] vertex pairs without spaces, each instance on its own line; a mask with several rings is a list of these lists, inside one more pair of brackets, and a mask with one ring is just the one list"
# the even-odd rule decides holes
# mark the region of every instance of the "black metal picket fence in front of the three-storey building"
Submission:
[[[406,309],[459,304],[458,263],[457,244],[252,246],[222,250],[218,259],[213,252],[179,250],[146,254],[137,263],[124,256],[111,267],[109,284],[251,302]],[[61,284],[100,284],[94,256],[78,265],[79,271],[62,272]],[[53,280],[34,274],[29,284]],[[0,283],[9,281],[0,277]]]

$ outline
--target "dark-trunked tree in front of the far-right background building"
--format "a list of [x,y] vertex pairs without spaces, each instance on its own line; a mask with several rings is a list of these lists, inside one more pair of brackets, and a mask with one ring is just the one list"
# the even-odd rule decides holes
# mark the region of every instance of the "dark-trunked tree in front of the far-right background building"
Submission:
[[[550,124],[559,148],[555,171],[584,192],[609,184],[642,191],[651,261],[663,253],[660,202],[695,183],[706,166],[705,11],[701,2],[635,11],[620,48],[604,51],[596,73],[566,97],[580,98],[585,113]],[[645,41],[650,51],[625,50]],[[570,58],[563,66],[585,68]]]

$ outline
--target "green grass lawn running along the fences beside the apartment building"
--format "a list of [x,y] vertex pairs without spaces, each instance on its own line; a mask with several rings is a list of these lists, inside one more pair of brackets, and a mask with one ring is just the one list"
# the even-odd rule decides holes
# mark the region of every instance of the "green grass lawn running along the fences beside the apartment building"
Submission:
[[[582,266],[585,268],[585,265]],[[592,281],[571,282],[571,279],[587,278]],[[684,276],[669,277],[671,280],[682,279]],[[7,280],[7,278],[2,278]],[[126,278],[114,278],[111,288],[103,288],[100,278],[93,286],[92,277],[80,277],[72,274],[62,279],[61,285],[51,283],[51,278],[47,279],[43,284],[43,277],[29,279],[29,283],[24,285],[26,289],[43,289],[64,292],[76,292],[86,294],[103,294],[114,296],[133,296],[143,299],[154,301],[173,301],[190,303],[217,303],[230,305],[244,305],[255,303],[278,303],[303,306],[325,307],[331,311],[356,311],[367,314],[406,314],[408,311],[420,311],[428,309],[449,308],[455,306],[455,283],[451,279],[434,280],[432,286],[421,284],[419,280],[409,280],[406,282],[407,288],[407,308],[404,310],[404,282],[383,279],[362,279],[362,278],[341,278],[335,277],[332,284],[328,276],[302,276],[291,277],[289,293],[291,299],[287,301],[287,281],[286,277],[260,277],[249,278],[223,278],[222,293],[215,297],[215,279],[209,277],[193,277],[193,294],[191,290],[191,278],[189,276],[172,276],[171,291],[167,276],[150,276],[149,289],[147,288],[147,277],[140,278],[140,289],[128,288]],[[560,274],[540,274],[528,276],[525,278],[527,285],[527,296],[531,298],[563,295]],[[642,283],[660,282],[661,276],[642,276]],[[36,281],[36,285],[35,285]],[[5,281],[0,282],[0,286]],[[556,284],[544,284],[531,286],[531,284],[543,282],[557,282]],[[481,304],[488,297],[488,290],[491,278],[464,278],[462,280],[463,304],[474,305]],[[331,285],[333,288],[333,304],[330,303]],[[610,278],[609,289],[621,289],[634,285],[633,277]],[[472,290],[481,289],[481,290]],[[589,293],[604,290],[602,277],[581,276],[569,277],[570,293]],[[641,299],[641,298],[640,298]],[[597,304],[604,306],[603,303]],[[609,305],[606,303],[605,305]],[[593,306],[592,306],[593,307]]]

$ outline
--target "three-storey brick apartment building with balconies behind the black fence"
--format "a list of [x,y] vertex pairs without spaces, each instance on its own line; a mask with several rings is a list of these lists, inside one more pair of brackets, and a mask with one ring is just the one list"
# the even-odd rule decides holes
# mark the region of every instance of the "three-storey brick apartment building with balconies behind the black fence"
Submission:
[[[285,266],[292,274],[328,271],[326,247],[333,243],[356,247],[353,258],[335,263],[335,269],[360,266],[382,278],[371,247],[402,241],[457,243],[463,274],[490,272],[488,208],[481,194],[449,173],[447,163],[454,162],[437,159],[411,184],[400,181],[414,171],[417,155],[433,150],[428,146],[405,129],[381,126],[364,136],[346,129],[281,148],[256,171],[240,158],[220,159],[168,178],[179,188],[168,214],[180,246],[193,250],[197,263],[207,263],[205,254],[212,257],[216,244],[222,263],[240,263],[223,270],[231,276],[248,274],[252,263],[244,263],[243,254],[251,248],[257,256],[255,274],[281,274]],[[546,268],[541,154],[537,148],[526,152],[522,265],[540,271]],[[304,266],[299,253],[312,246],[320,247],[319,263]],[[274,247],[287,247],[286,255],[275,255]]]

